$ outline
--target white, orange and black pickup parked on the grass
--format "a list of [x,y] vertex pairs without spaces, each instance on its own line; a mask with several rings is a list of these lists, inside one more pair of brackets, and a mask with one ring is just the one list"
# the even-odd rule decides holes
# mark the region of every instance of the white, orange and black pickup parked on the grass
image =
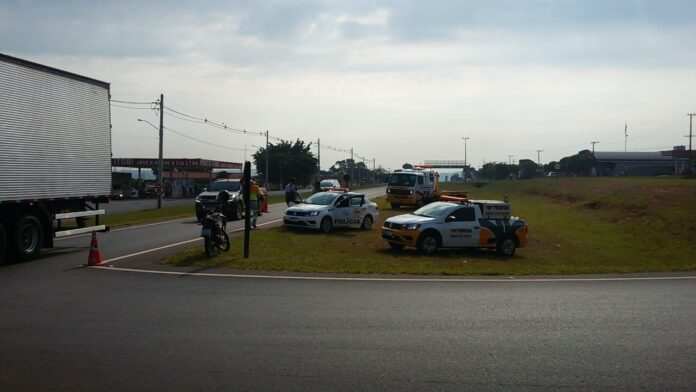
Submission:
[[387,219],[382,238],[394,249],[406,246],[425,255],[438,248],[495,248],[510,257],[527,245],[527,224],[496,200],[438,201]]

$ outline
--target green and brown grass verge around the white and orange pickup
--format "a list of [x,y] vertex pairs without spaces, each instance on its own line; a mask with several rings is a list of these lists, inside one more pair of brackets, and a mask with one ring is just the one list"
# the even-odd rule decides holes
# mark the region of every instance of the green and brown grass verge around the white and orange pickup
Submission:
[[237,269],[427,275],[592,274],[696,270],[696,182],[655,178],[559,178],[491,182],[468,190],[471,198],[508,195],[513,214],[529,224],[529,244],[515,257],[488,250],[439,250],[425,257],[395,251],[379,236],[391,210],[380,202],[373,230],[331,234],[286,228],[253,232],[251,257],[241,239],[231,252],[207,260],[202,247],[165,262]]

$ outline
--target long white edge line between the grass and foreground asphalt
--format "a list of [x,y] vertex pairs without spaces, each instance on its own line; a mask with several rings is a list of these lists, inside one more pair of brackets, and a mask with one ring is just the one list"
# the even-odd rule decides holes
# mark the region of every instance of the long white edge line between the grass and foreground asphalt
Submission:
[[178,272],[178,271],[153,271],[135,268],[119,268],[110,266],[93,266],[89,268],[102,269],[107,271],[137,272],[156,275],[173,276],[204,276],[217,278],[253,278],[253,279],[276,279],[276,280],[325,280],[325,281],[351,281],[351,282],[484,282],[484,283],[529,283],[529,282],[626,282],[626,281],[650,281],[650,280],[696,280],[696,276],[655,276],[655,277],[626,277],[626,278],[499,278],[499,279],[475,279],[475,278],[357,278],[357,277],[329,277],[329,276],[289,276],[289,275],[247,275],[247,274],[225,274],[225,273],[206,273],[206,272]]

